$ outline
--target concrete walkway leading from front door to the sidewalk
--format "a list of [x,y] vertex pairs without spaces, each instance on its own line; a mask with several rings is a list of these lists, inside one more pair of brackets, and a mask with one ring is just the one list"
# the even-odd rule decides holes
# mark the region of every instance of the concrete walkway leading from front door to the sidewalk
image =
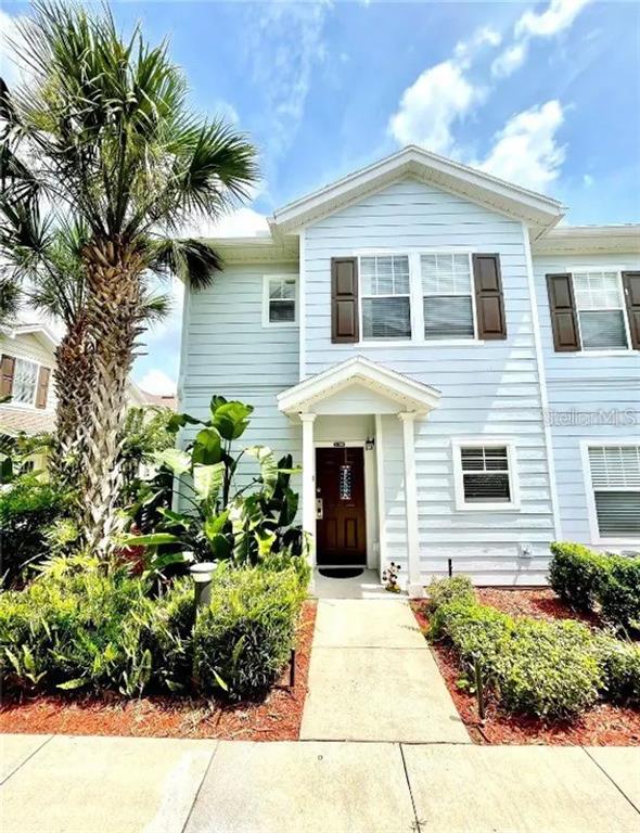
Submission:
[[320,599],[300,738],[471,743],[406,600]]

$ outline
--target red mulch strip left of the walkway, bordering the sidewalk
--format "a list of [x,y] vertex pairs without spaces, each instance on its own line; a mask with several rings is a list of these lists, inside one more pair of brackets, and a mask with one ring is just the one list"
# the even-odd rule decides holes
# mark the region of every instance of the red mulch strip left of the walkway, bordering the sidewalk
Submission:
[[219,738],[297,741],[316,623],[316,603],[303,608],[296,646],[295,688],[289,668],[264,701],[221,704],[170,695],[110,701],[95,696],[39,695],[0,708],[0,732],[114,734],[135,738]]

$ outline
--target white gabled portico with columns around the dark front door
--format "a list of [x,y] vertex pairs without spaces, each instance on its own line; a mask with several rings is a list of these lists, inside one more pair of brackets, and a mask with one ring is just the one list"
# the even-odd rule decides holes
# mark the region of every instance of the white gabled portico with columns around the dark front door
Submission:
[[381,576],[399,561],[402,584],[420,592],[414,423],[439,399],[436,388],[362,356],[278,396],[279,410],[303,426],[303,526],[313,567],[361,563]]

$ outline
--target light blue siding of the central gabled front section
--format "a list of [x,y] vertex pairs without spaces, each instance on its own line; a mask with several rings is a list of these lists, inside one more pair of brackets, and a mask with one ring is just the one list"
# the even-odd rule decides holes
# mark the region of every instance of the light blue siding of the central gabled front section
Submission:
[[[509,337],[484,345],[382,347],[331,343],[331,257],[408,249],[500,254]],[[549,472],[522,225],[413,180],[396,182],[305,230],[305,370],[317,373],[361,354],[441,390],[417,424],[421,568],[485,582],[543,580],[553,539]],[[455,504],[451,439],[502,437],[515,443],[522,509],[464,512]],[[383,418],[387,560],[406,559],[401,426]],[[530,544],[522,558],[519,544]]]

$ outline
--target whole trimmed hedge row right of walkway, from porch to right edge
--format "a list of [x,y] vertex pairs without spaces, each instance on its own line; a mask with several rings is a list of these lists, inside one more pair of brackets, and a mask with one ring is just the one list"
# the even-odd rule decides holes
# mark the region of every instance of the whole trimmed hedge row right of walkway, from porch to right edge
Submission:
[[438,582],[436,595],[446,601],[431,600],[428,638],[455,649],[469,680],[477,657],[485,683],[508,712],[559,719],[600,697],[640,705],[640,645],[577,621],[512,617],[464,591],[456,598],[460,587],[452,579]]

